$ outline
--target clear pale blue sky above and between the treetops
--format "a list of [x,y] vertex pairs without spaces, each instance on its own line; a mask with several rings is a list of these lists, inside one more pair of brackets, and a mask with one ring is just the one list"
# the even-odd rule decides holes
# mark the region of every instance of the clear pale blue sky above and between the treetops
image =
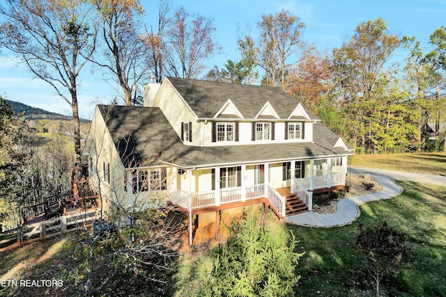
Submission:
[[[146,10],[146,24],[157,24],[156,0],[141,0]],[[262,15],[289,10],[306,24],[302,37],[320,51],[330,52],[348,41],[358,24],[369,19],[385,19],[390,33],[415,36],[427,45],[429,35],[440,26],[446,26],[446,0],[173,0],[172,7],[183,6],[187,13],[213,19],[215,40],[222,47],[220,54],[208,61],[224,67],[231,59],[238,61],[238,35],[256,33],[256,24]],[[404,53],[397,57],[403,59]],[[206,71],[207,72],[207,71]],[[204,73],[203,73],[204,74]],[[89,69],[81,72],[79,116],[93,117],[95,104],[109,103],[116,97],[116,90],[100,74]],[[68,93],[68,92],[67,92]],[[22,102],[63,115],[72,115],[70,105],[56,95],[47,84],[17,65],[8,51],[0,49],[0,94],[6,99]]]

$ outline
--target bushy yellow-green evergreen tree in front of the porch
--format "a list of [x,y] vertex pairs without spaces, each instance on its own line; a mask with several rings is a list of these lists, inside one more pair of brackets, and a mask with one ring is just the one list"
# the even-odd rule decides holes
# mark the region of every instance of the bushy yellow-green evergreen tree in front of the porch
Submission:
[[227,243],[217,252],[213,275],[203,283],[206,296],[293,296],[298,241],[281,225],[268,225],[266,214],[249,211],[231,225]]

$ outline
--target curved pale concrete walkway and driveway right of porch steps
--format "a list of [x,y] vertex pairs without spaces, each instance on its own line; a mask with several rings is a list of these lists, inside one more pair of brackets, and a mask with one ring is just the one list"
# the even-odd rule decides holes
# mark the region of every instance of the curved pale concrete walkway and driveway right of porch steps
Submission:
[[441,175],[422,175],[419,173],[357,167],[349,168],[349,172],[353,174],[371,173],[371,175],[373,175],[373,177],[383,186],[383,191],[339,200],[339,202],[337,202],[337,211],[334,214],[316,214],[309,211],[305,214],[289,216],[284,220],[287,223],[312,227],[334,227],[346,225],[351,223],[360,215],[357,205],[374,200],[388,199],[399,195],[402,192],[402,189],[400,186],[395,184],[392,179],[446,186],[446,177]]

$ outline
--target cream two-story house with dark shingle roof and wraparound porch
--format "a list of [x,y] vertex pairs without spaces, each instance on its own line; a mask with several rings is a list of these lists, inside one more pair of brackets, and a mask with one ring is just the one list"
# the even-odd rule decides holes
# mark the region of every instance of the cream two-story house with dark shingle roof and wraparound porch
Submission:
[[343,188],[351,147],[279,88],[167,77],[144,106],[97,106],[84,154],[104,206],[170,202],[192,220],[262,203],[279,218]]

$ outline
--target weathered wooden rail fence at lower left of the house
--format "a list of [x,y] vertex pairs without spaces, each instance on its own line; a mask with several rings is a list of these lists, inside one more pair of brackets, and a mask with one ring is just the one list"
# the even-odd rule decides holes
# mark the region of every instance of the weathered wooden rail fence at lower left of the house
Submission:
[[0,252],[22,246],[25,243],[40,241],[59,234],[84,229],[99,218],[98,211],[78,212],[68,216],[60,216],[52,220],[19,226],[13,230],[0,233]]

